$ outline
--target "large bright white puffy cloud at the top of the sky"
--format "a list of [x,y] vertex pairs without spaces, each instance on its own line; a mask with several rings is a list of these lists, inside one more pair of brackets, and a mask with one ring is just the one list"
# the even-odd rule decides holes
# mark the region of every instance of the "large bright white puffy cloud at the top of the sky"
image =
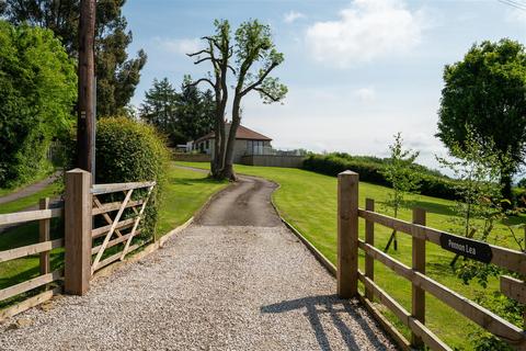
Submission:
[[306,33],[315,58],[340,66],[410,52],[422,41],[424,15],[402,0],[355,0],[336,21],[316,22]]

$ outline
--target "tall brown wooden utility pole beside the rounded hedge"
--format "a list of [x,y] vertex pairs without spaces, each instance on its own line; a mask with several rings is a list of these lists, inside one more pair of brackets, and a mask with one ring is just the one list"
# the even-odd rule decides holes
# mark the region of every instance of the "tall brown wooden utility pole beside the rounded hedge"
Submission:
[[93,166],[95,0],[80,1],[79,97],[77,117],[77,166],[88,172]]

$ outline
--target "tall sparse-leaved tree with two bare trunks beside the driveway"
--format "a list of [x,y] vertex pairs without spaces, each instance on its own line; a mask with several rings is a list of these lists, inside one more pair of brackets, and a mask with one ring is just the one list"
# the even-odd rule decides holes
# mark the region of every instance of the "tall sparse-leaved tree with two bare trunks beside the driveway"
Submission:
[[[233,147],[236,133],[241,124],[241,101],[251,91],[258,91],[264,103],[278,102],[285,98],[287,87],[282,84],[277,78],[270,76],[271,71],[283,63],[284,56],[275,48],[271,27],[258,20],[241,23],[236,31],[233,46],[230,46],[228,21],[216,21],[215,25],[216,34],[204,37],[208,42],[208,48],[190,54],[190,56],[206,54],[203,58],[198,57],[195,64],[210,60],[214,67],[214,81],[210,73],[209,78],[202,78],[195,82],[208,82],[216,93],[216,135],[219,135],[220,139],[220,145],[216,144],[216,150],[220,151],[216,152],[216,159],[213,161],[213,176],[236,179],[232,167]],[[235,57],[233,65],[230,64],[232,56]],[[229,70],[235,73],[236,83],[232,122],[228,138],[226,138],[224,114],[228,99],[226,82]]]

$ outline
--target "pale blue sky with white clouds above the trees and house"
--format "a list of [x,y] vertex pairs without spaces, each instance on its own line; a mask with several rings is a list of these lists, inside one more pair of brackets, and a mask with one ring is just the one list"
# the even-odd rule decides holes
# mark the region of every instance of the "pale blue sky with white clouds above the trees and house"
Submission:
[[434,137],[444,65],[474,42],[526,44],[526,11],[498,0],[128,0],[124,14],[134,33],[130,54],[148,54],[135,105],[155,78],[179,87],[184,75],[209,70],[184,53],[202,47],[198,38],[211,34],[214,19],[233,27],[259,19],[285,54],[274,76],[289,93],[273,105],[247,97],[244,125],[278,148],[376,156],[387,156],[392,135],[402,132],[421,151],[418,161],[431,167],[435,154],[445,154]]

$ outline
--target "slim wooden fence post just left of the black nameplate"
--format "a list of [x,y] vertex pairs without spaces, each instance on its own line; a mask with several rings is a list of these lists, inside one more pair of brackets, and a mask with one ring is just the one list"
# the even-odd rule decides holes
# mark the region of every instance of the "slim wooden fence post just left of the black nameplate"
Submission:
[[[425,226],[425,211],[413,208],[413,223]],[[425,274],[425,239],[413,234],[413,270]],[[425,324],[425,291],[416,284],[412,284],[412,316]],[[411,344],[423,347],[424,342],[420,337],[411,333]]]

